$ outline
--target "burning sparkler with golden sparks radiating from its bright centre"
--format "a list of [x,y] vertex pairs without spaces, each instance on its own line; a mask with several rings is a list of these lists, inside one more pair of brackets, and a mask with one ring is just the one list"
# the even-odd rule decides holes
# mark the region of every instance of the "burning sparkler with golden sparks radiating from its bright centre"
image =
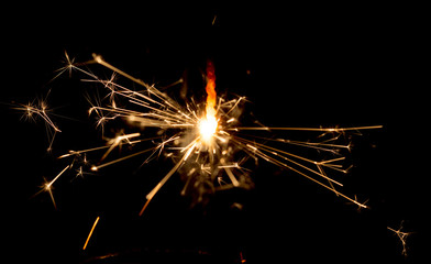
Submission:
[[[93,59],[85,64],[74,64],[67,55],[67,65],[62,68],[60,73],[78,70],[85,74],[92,81],[103,86],[110,98],[108,106],[100,103],[91,106],[90,114],[98,117],[98,124],[104,124],[111,120],[121,119],[135,129],[155,128],[158,130],[155,136],[144,136],[142,132],[119,133],[115,138],[108,140],[104,146],[96,146],[81,151],[69,151],[69,153],[59,156],[59,158],[71,157],[70,165],[66,166],[53,180],[48,182],[43,190],[48,191],[52,200],[52,185],[68,168],[76,166],[77,158],[82,156],[87,161],[87,154],[91,152],[104,151],[99,162],[93,163],[91,170],[99,170],[106,166],[117,164],[131,157],[146,154],[144,163],[151,161],[155,155],[165,153],[166,156],[174,161],[172,169],[159,180],[159,183],[146,195],[146,202],[140,211],[143,215],[150,201],[158,190],[169,180],[169,178],[179,173],[185,182],[181,195],[190,194],[197,198],[197,202],[203,201],[205,196],[217,190],[233,187],[250,188],[250,169],[246,167],[247,161],[264,160],[276,166],[290,169],[309,180],[331,190],[336,196],[342,197],[360,208],[366,208],[365,204],[339,191],[336,186],[343,186],[339,180],[329,176],[328,170],[345,174],[349,167],[340,164],[345,160],[340,151],[350,150],[350,144],[339,143],[342,134],[349,131],[358,131],[367,129],[379,129],[382,125],[357,127],[357,128],[268,128],[242,127],[240,119],[242,106],[245,102],[244,97],[228,100],[224,97],[218,97],[216,92],[216,73],[212,62],[207,63],[207,100],[196,102],[195,99],[186,101],[184,105],[175,101],[165,92],[159,91],[156,87],[145,84],[144,81],[122,72],[102,59],[99,55],[93,55]],[[114,74],[125,77],[126,79],[142,86],[143,91],[136,91],[126,88],[115,81],[113,78],[104,80],[80,66],[89,64],[99,64]],[[128,107],[119,107],[118,100],[128,102]],[[43,110],[37,110],[27,106],[29,113],[37,113],[55,131],[57,127],[47,118]],[[252,133],[246,133],[251,132]],[[269,133],[274,131],[308,131],[320,133],[319,142],[305,142],[287,139],[273,139],[257,133]],[[110,153],[122,145],[139,145],[143,142],[158,142],[150,148],[141,150],[135,153],[109,160]],[[280,146],[281,145],[281,146]],[[310,148],[321,153],[329,153],[331,158],[314,160],[303,157],[300,154],[286,151],[286,146],[291,148]],[[157,154],[158,153],[158,154]],[[78,173],[81,175],[82,166],[79,166]]]

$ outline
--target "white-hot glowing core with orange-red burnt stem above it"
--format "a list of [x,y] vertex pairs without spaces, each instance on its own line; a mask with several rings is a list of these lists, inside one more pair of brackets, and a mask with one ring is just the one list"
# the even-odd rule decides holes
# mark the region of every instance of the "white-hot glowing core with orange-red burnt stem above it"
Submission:
[[214,65],[211,61],[207,63],[207,107],[206,107],[206,116],[199,122],[199,133],[201,139],[209,143],[211,142],[212,135],[217,132],[218,121],[216,118],[216,74],[214,74]]

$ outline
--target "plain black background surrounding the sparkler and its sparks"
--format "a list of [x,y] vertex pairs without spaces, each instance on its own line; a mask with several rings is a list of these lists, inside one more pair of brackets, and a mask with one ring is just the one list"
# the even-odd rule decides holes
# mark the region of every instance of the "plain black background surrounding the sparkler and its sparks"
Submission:
[[[18,263],[241,263],[240,253],[247,263],[421,260],[429,135],[420,11],[393,4],[4,9],[2,250]],[[156,86],[185,70],[198,76],[212,59],[217,89],[247,97],[255,118],[267,125],[383,124],[355,139],[350,156],[355,167],[343,180],[350,194],[369,198],[371,209],[358,212],[295,173],[262,163],[253,175],[255,189],[217,194],[205,208],[189,209],[174,177],[140,218],[145,195],[172,166],[165,160],[137,173],[139,161],[85,178],[65,175],[54,186],[57,210],[47,194],[31,198],[43,177],[53,178],[67,164],[56,156],[103,144],[87,117],[81,76],[49,82],[65,51],[77,62],[101,54]],[[201,92],[200,85],[190,89]],[[64,131],[53,154],[46,153],[43,123],[22,121],[10,106],[49,89],[54,112],[74,118],[53,118]],[[81,251],[98,216],[89,248]],[[405,231],[415,232],[407,257],[387,230],[401,221]]]

